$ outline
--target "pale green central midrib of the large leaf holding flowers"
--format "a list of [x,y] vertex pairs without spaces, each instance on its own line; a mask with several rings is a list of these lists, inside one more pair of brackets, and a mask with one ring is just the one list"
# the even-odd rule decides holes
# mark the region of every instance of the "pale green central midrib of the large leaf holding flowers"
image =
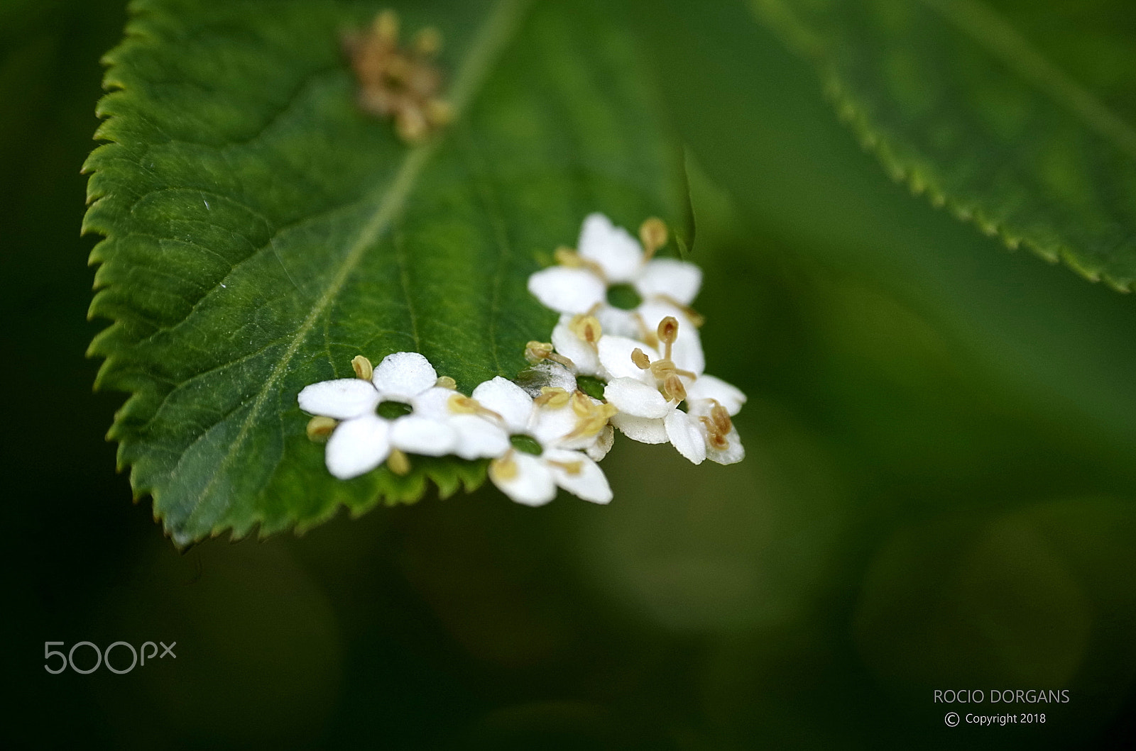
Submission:
[[[529,0],[498,0],[496,5],[490,11],[485,23],[482,25],[481,29],[478,29],[474,42],[469,47],[469,51],[458,67],[453,86],[450,90],[450,101],[453,106],[454,112],[459,117],[473,99],[491,64],[511,37],[528,1]],[[332,301],[339,295],[343,285],[346,282],[348,277],[350,277],[351,272],[359,265],[359,262],[362,260],[368,248],[373,247],[376,241],[390,227],[391,220],[401,210],[407,195],[409,195],[414,188],[415,180],[417,179],[419,172],[426,162],[429,161],[431,157],[433,157],[433,154],[437,151],[437,147],[438,141],[435,140],[424,146],[411,149],[407,153],[407,157],[403,160],[402,166],[399,168],[394,179],[378,196],[378,205],[371,214],[370,220],[360,230],[356,242],[351,245],[346,255],[343,258],[335,277],[333,277],[332,281],[324,290],[324,294],[316,301],[311,312],[308,313],[307,318],[304,318],[303,322],[295,330],[295,334],[292,336],[292,340],[289,343],[287,349],[284,351],[279,362],[277,362],[276,366],[273,368],[272,373],[269,373],[264,386],[257,393],[257,398],[252,403],[244,422],[241,424],[240,431],[233,439],[228,450],[225,452],[224,456],[222,456],[217,469],[209,479],[209,482],[204,488],[202,488],[201,492],[198,493],[190,513],[185,515],[185,525],[187,525],[192,520],[197,509],[200,507],[201,501],[209,496],[214,484],[217,482],[217,479],[224,473],[233,456],[236,455],[241,446],[244,444],[249,434],[249,430],[259,416],[265,403],[273,394],[276,383],[287,371],[287,365],[299,351],[300,345],[315,327],[316,321],[320,319],[331,305]]]

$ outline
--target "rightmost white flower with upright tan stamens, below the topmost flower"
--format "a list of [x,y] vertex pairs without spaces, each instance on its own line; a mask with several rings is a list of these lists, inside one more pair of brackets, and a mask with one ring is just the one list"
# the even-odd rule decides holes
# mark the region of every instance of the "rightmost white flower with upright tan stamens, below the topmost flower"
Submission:
[[[603,397],[619,410],[611,423],[633,440],[669,442],[694,464],[707,457],[719,464],[741,462],[745,450],[729,417],[742,408],[745,395],[701,370],[678,368],[671,358],[677,328],[675,319],[659,324],[662,356],[625,337],[600,339],[600,362],[611,376]],[[683,402],[686,412],[678,408]]]

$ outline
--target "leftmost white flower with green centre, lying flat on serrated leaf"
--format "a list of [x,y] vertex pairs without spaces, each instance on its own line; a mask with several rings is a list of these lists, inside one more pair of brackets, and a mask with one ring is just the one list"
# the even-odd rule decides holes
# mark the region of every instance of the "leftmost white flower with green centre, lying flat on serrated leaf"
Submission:
[[[328,472],[349,480],[374,470],[394,449],[443,456],[458,447],[458,429],[419,410],[424,395],[437,382],[426,357],[395,352],[373,371],[364,357],[352,364],[357,378],[312,383],[298,397],[304,412],[340,421],[327,440],[324,461]],[[384,417],[376,412],[381,404],[391,402],[406,405],[407,414]]]

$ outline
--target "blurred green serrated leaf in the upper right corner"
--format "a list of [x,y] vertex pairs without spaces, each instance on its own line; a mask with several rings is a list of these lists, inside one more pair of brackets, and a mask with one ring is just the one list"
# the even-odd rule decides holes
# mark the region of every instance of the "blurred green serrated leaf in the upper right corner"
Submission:
[[887,171],[1010,247],[1136,281],[1126,0],[751,0]]

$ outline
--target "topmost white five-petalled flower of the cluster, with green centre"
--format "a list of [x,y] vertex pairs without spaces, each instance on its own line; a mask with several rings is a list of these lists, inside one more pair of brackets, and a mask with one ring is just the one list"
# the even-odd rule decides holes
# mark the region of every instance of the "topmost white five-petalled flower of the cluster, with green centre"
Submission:
[[[686,323],[675,341],[674,360],[682,368],[701,371],[705,360],[696,327],[699,317],[688,306],[699,294],[702,271],[685,261],[652,258],[666,243],[666,231],[662,222],[649,219],[640,229],[644,241],[641,245],[603,214],[588,214],[580,229],[578,252],[558,251],[559,265],[532,275],[528,290],[545,306],[569,318],[594,317],[605,335],[651,345],[655,344],[654,331],[660,321],[674,317]],[[609,301],[609,293],[632,290],[630,296],[640,299],[627,310]],[[561,324],[565,320],[562,317]],[[574,346],[563,334],[561,343],[569,348]],[[560,351],[560,346],[557,345],[557,349],[575,362],[571,355]],[[584,355],[590,362],[586,353]],[[590,368],[584,365],[579,372],[593,374],[587,372]]]

